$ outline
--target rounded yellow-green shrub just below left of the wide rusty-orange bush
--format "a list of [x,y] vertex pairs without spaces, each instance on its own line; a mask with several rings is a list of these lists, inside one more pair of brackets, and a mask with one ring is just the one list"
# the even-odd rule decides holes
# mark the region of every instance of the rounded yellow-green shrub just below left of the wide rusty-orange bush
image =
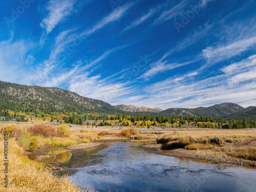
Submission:
[[18,143],[23,146],[25,151],[32,151],[38,147],[36,137],[33,137],[26,132],[18,138]]

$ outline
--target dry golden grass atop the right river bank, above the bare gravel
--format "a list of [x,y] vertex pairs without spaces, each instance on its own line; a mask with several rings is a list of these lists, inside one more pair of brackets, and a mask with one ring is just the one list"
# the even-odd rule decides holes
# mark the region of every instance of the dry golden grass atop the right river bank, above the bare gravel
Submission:
[[[218,138],[219,143],[211,139]],[[167,149],[208,150],[237,158],[256,160],[256,130],[206,130],[165,133],[157,143]]]

